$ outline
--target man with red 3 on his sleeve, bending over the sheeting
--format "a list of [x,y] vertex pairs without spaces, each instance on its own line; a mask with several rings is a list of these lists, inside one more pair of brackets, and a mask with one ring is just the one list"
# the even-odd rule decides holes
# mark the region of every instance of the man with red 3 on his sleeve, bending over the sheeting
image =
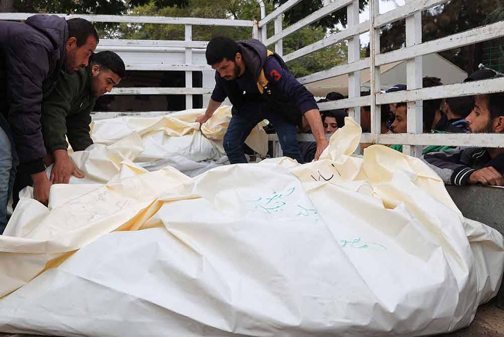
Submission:
[[275,127],[284,155],[302,162],[296,135],[302,115],[317,141],[315,159],[319,158],[328,141],[318,106],[279,55],[258,40],[235,42],[217,37],[209,42],[206,57],[207,63],[216,70],[216,84],[207,111],[196,121],[205,123],[225,98],[229,98],[233,116],[223,145],[232,164],[246,162],[243,143],[263,119]]

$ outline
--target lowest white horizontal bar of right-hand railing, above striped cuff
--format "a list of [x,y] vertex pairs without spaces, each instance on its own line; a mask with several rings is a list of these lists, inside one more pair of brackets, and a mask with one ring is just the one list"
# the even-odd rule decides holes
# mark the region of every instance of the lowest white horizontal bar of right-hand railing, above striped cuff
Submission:
[[502,133],[424,133],[381,134],[379,144],[504,147]]

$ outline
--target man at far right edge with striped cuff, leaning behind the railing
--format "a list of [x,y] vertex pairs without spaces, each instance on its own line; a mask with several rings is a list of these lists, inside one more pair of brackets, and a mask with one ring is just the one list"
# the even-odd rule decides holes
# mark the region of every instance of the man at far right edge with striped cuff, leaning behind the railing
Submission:
[[[466,121],[471,133],[504,132],[504,93],[476,95]],[[447,185],[504,186],[504,148],[457,147],[425,154],[423,160]]]

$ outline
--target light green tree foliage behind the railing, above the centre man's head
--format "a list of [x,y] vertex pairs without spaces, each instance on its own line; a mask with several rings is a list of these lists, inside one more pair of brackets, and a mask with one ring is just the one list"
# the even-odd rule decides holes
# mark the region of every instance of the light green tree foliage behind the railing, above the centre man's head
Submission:
[[[267,4],[267,12],[274,10],[273,3]],[[260,8],[256,0],[188,0],[185,6],[159,8],[153,1],[133,9],[133,15],[159,15],[169,17],[199,17],[216,19],[260,19]],[[288,23],[284,26],[287,27]],[[268,25],[268,36],[273,35],[273,24]],[[334,33],[335,31],[330,31]],[[291,53],[311,43],[323,39],[327,30],[323,27],[305,27],[283,40],[284,54]],[[124,39],[183,40],[182,25],[121,24],[120,35]],[[193,26],[193,40],[209,41],[215,36],[228,36],[234,40],[250,39],[248,27]],[[274,46],[269,46],[274,49]],[[294,76],[305,76],[313,72],[329,69],[346,60],[346,44],[334,45],[306,55],[288,63]]]

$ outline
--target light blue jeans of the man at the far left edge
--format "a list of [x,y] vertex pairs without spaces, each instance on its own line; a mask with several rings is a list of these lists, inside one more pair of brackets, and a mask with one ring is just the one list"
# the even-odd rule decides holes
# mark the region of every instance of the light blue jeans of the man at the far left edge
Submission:
[[11,129],[0,114],[0,234],[7,226],[7,203],[11,197],[17,166],[18,156]]

